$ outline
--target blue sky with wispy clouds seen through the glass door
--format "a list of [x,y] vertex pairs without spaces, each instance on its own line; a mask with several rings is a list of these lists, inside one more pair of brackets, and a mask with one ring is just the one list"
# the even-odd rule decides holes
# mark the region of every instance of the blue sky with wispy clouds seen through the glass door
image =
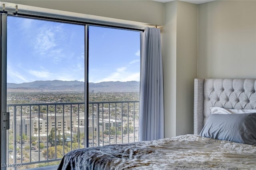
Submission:
[[[84,26],[8,17],[7,82],[84,81]],[[89,26],[89,82],[139,81],[140,32]]]

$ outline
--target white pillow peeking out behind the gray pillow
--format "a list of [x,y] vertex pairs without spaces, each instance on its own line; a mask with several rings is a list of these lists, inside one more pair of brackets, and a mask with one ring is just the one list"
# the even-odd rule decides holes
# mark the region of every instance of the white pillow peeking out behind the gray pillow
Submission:
[[241,114],[256,113],[256,109],[225,109],[221,107],[211,107],[211,114]]

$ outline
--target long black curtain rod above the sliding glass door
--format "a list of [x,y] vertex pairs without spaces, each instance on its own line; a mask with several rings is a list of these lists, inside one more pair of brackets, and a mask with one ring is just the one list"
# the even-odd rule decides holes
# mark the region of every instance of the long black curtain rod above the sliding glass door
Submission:
[[134,31],[144,32],[143,29],[129,28],[129,27],[125,27],[125,26],[114,26],[114,25],[109,25],[109,24],[99,24],[99,23],[94,23],[94,22],[84,22],[84,21],[78,21],[78,20],[68,20],[68,19],[53,18],[53,17],[48,17],[48,16],[22,14],[22,13],[18,13],[18,12],[13,12],[13,14],[9,14],[6,10],[1,10],[0,14],[7,14],[7,15],[10,15],[10,16],[22,16],[22,17],[25,17],[25,18],[32,18],[32,19],[38,19],[38,20],[47,20],[47,21],[53,21],[53,22],[65,22],[65,23],[69,23],[69,24],[93,25],[93,26],[102,26],[102,27],[108,27],[108,28],[118,28],[118,29],[123,29],[123,30],[134,30]]

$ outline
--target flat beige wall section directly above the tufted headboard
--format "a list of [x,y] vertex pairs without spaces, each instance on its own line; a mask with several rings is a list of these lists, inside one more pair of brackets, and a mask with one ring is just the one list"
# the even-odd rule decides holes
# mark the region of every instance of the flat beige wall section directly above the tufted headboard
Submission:
[[256,78],[256,1],[214,1],[198,9],[198,78]]

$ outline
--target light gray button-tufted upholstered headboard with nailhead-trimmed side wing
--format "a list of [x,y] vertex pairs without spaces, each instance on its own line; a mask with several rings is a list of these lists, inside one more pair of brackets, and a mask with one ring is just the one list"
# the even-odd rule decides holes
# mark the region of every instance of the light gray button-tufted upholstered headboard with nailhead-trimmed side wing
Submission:
[[195,79],[194,134],[199,134],[210,107],[256,109],[256,79]]

